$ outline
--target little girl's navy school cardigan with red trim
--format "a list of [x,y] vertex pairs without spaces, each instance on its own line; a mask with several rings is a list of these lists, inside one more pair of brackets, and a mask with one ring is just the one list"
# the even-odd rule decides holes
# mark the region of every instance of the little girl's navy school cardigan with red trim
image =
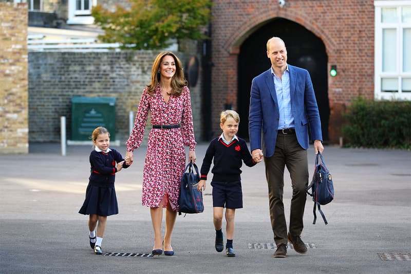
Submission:
[[[88,178],[88,184],[101,188],[114,187],[115,174],[117,172],[116,164],[123,160],[120,152],[115,149],[111,149],[108,153],[91,151],[91,174]],[[123,168],[128,168],[125,162],[123,163]]]

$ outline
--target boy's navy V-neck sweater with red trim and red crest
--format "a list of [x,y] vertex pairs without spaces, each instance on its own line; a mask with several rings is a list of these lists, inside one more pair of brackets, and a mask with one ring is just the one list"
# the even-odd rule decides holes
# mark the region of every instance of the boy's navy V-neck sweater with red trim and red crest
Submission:
[[242,161],[248,167],[253,167],[256,162],[248,150],[245,140],[234,139],[230,144],[226,144],[222,139],[217,137],[213,139],[206,151],[206,156],[202,160],[201,179],[207,180],[207,174],[210,171],[211,161],[214,158],[213,181],[239,181],[241,180]]

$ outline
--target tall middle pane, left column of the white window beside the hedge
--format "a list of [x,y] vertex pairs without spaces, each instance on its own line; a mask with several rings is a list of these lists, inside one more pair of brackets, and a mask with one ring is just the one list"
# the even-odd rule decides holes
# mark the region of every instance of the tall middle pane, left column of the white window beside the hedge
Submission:
[[382,71],[397,71],[396,29],[383,29],[382,31]]

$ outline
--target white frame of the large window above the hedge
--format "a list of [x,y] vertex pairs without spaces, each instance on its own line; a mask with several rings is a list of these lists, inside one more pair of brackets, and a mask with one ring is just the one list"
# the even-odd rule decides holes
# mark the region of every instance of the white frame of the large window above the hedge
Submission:
[[[411,23],[401,22],[402,7],[411,7],[410,0],[398,1],[374,1],[375,7],[375,38],[374,38],[374,95],[375,99],[386,100],[406,100],[411,101],[411,92],[402,92],[402,78],[411,78],[411,72],[403,72],[403,28],[411,28]],[[399,22],[398,23],[381,23],[381,9],[382,8],[397,8]],[[382,48],[382,33],[384,28],[391,28],[397,30],[397,70],[396,72],[383,72],[383,48]],[[398,79],[398,92],[381,92],[381,79],[384,77],[392,77]]]

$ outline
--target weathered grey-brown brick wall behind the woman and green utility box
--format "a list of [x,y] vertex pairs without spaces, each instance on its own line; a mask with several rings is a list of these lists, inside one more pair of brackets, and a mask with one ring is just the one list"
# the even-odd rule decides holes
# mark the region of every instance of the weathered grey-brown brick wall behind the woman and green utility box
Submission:
[[[116,98],[116,139],[124,143],[129,136],[128,113],[134,111],[135,114],[137,111],[142,90],[151,80],[153,61],[158,53],[30,52],[29,140],[58,142],[60,116],[66,116],[69,140],[71,98],[86,96]],[[184,67],[191,57],[180,52],[177,56]],[[197,140],[201,136],[200,90],[201,82],[190,87]]]

